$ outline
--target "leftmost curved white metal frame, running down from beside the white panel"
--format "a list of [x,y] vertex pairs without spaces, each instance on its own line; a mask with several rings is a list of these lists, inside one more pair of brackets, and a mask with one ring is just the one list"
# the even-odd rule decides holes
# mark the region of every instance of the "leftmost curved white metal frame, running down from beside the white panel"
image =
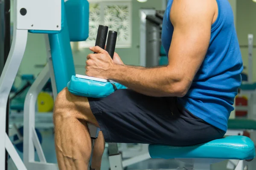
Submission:
[[14,1],[14,29],[12,46],[0,77],[0,169],[5,169],[5,150],[19,170],[26,170],[20,156],[6,134],[6,106],[23,54],[26,49],[28,30],[17,29],[17,0]]

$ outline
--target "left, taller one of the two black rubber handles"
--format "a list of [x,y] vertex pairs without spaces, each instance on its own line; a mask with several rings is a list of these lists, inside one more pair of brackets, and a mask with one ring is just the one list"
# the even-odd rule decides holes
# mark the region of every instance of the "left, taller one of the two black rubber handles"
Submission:
[[[108,36],[108,26],[99,25],[95,46],[99,46],[100,48],[105,49],[107,36]],[[94,52],[94,54],[95,53],[96,52]]]

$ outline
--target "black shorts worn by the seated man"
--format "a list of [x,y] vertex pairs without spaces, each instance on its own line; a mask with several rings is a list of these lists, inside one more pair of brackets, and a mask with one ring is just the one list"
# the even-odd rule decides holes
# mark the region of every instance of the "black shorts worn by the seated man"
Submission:
[[175,97],[150,97],[119,89],[88,98],[108,143],[186,146],[222,138],[224,132],[177,104]]

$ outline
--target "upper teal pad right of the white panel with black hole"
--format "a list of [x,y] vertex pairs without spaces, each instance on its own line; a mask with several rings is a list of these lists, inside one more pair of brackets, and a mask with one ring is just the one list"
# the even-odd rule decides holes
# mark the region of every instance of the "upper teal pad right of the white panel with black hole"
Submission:
[[70,41],[84,41],[89,35],[89,3],[87,0],[68,0],[65,3]]

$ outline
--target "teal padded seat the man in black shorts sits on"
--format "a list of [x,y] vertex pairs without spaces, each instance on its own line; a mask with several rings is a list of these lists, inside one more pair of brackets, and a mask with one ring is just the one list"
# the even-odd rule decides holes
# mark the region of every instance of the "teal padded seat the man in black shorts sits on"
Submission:
[[151,158],[207,158],[249,160],[255,157],[254,143],[246,136],[227,136],[194,146],[150,144]]

